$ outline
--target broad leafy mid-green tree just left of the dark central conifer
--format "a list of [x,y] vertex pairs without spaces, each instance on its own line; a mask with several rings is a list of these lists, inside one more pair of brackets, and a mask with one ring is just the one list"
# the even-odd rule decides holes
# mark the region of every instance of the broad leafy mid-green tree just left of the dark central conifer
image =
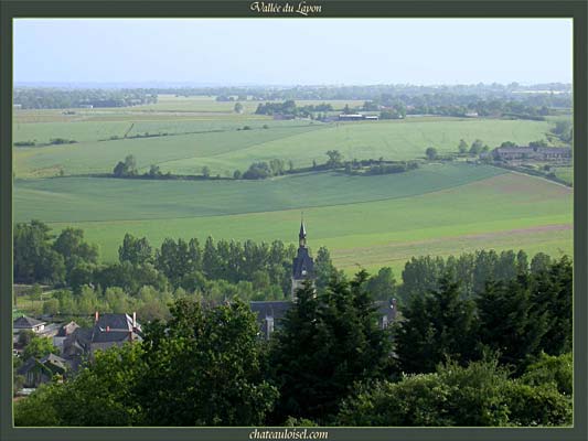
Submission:
[[167,324],[146,326],[137,395],[147,424],[259,426],[277,390],[263,377],[263,347],[249,308],[179,300]]

